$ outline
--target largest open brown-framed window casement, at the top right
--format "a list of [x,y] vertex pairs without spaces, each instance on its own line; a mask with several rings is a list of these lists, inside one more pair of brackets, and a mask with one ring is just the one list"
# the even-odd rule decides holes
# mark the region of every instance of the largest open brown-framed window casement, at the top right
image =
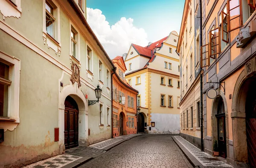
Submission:
[[[248,0],[249,2],[250,0]],[[243,25],[240,0],[227,0],[229,15],[229,31],[236,30]]]

